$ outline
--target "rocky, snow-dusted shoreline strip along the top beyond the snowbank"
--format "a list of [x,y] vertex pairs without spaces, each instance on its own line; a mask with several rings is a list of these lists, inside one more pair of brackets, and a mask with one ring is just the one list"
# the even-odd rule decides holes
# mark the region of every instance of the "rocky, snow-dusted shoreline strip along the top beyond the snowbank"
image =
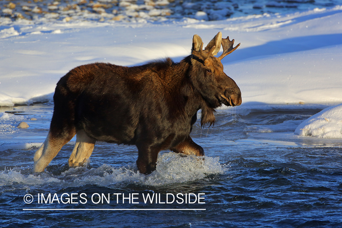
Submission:
[[[276,9],[301,6],[332,6],[314,0],[238,1],[238,0],[2,0],[0,24],[46,21],[162,22],[182,19],[215,21],[246,14],[274,13]],[[330,4],[330,5],[329,5]]]

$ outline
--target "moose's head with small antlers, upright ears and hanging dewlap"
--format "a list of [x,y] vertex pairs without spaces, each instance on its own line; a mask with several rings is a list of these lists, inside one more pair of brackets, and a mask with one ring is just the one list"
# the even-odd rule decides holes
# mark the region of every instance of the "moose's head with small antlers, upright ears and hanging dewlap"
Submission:
[[[214,55],[220,51],[221,45],[223,53],[221,56],[215,57]],[[222,39],[222,33],[219,32],[203,50],[202,39],[198,35],[193,37],[191,62],[196,70],[192,71],[190,78],[196,90],[207,103],[207,107],[202,107],[202,125],[206,123],[211,125],[215,122],[213,111],[222,104],[237,106],[242,103],[239,87],[223,72],[221,63],[221,60],[235,51],[240,43],[235,47],[233,45],[234,39],[232,41],[229,40],[229,37]]]

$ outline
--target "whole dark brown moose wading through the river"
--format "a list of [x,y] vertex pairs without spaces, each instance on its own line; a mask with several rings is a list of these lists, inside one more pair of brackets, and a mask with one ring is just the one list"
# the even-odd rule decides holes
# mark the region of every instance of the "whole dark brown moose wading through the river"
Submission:
[[[215,57],[221,45],[223,53]],[[34,172],[45,167],[76,134],[69,167],[84,165],[96,141],[135,145],[140,173],[156,170],[158,153],[169,149],[204,156],[190,137],[197,111],[201,127],[215,123],[215,108],[240,105],[241,92],[223,72],[221,60],[235,51],[219,32],[203,49],[194,35],[192,52],[142,66],[92,63],[70,70],[57,83],[47,138],[34,155]]]

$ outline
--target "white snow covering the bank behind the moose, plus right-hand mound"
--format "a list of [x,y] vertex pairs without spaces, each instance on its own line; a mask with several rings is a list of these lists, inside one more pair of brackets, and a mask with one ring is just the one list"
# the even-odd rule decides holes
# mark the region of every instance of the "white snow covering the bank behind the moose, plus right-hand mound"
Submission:
[[[205,21],[208,13],[200,9],[195,18],[179,20],[163,17],[165,10],[153,13],[159,16],[156,22],[140,17],[117,22],[105,15],[104,22],[58,21],[53,13],[36,21],[1,17],[0,106],[51,102],[57,81],[82,64],[133,66],[167,56],[180,61],[190,54],[194,34],[207,43],[219,31],[241,42],[222,60],[242,92],[237,112],[342,103],[342,6],[229,19],[219,14],[219,21]],[[305,130],[296,134],[341,138],[341,105],[335,108],[339,111],[329,109],[308,120],[310,125],[301,124]]]

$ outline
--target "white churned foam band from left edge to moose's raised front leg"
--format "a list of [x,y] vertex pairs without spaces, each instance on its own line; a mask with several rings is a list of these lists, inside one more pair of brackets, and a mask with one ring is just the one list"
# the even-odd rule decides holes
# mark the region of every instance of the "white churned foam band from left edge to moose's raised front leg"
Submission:
[[[0,185],[11,185],[14,182],[23,185],[40,185],[56,183],[61,187],[78,187],[86,184],[109,186],[117,183],[136,183],[139,185],[162,186],[190,182],[205,178],[210,174],[226,171],[219,162],[219,157],[181,156],[173,152],[159,156],[156,171],[149,175],[139,173],[135,164],[122,167],[101,165],[98,168],[71,168],[59,176],[50,173],[41,175],[22,174],[22,168],[0,172]],[[25,171],[27,172],[27,170]]]

